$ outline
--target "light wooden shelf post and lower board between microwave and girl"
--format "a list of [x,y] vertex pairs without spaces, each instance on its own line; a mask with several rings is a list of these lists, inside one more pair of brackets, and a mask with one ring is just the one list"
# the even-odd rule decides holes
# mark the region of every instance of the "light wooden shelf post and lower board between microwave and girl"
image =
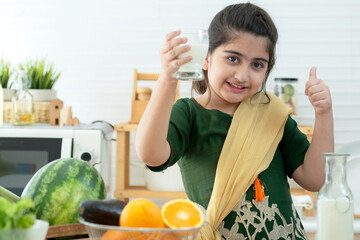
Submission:
[[123,201],[129,198],[187,198],[185,192],[150,191],[145,186],[130,185],[130,132],[137,130],[136,123],[122,123],[116,131],[116,186],[114,197]]

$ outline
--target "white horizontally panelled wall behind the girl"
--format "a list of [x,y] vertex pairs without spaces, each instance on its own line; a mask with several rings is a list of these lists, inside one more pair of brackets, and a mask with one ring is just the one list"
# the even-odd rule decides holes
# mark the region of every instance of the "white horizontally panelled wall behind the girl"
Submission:
[[[207,28],[231,0],[0,0],[0,56],[17,64],[47,59],[61,70],[58,97],[90,123],[130,120],[133,69],[158,72],[164,35]],[[299,78],[300,124],[313,124],[303,94],[311,66],[331,89],[339,147],[360,139],[360,1],[258,0],[279,30],[277,63],[269,79]],[[189,85],[181,83],[181,96]]]

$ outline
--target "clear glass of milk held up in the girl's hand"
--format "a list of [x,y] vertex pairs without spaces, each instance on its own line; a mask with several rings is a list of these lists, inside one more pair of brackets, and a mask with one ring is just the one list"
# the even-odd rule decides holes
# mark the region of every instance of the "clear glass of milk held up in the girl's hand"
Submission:
[[190,55],[192,56],[192,60],[179,68],[176,73],[176,78],[185,81],[204,80],[202,65],[209,47],[207,30],[185,29],[182,31],[182,37],[187,37],[188,42],[186,44],[189,44],[191,49],[179,57],[183,58]]

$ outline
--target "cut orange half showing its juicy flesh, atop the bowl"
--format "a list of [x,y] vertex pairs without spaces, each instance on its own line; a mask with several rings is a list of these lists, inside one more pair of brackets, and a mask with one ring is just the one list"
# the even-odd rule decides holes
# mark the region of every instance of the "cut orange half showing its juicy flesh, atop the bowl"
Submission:
[[161,216],[166,227],[200,227],[204,223],[204,214],[192,201],[175,199],[166,202],[161,208]]

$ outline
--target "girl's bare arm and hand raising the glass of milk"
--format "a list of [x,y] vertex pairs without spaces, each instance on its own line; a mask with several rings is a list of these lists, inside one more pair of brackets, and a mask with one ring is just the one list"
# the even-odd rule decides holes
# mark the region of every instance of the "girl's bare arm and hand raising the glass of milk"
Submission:
[[160,50],[160,75],[136,133],[136,153],[149,166],[165,163],[171,152],[166,137],[178,81],[175,74],[192,59],[191,56],[179,58],[190,50],[189,45],[182,45],[187,42],[186,38],[176,38],[180,33],[180,30],[173,31],[165,37]]

